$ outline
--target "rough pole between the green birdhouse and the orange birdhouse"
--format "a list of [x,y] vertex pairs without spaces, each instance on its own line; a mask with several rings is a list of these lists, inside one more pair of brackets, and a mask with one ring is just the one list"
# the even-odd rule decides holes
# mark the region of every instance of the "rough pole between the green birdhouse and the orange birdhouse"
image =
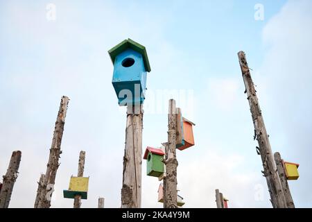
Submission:
[[175,100],[169,100],[168,142],[165,143],[166,177],[164,178],[164,208],[177,208],[177,158],[175,155],[176,108]]

